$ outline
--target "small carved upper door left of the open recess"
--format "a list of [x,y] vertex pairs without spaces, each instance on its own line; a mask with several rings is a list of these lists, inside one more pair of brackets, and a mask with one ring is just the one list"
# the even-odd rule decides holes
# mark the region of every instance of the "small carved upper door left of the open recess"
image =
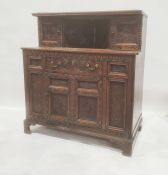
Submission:
[[40,46],[62,46],[62,24],[60,22],[44,22],[41,24]]

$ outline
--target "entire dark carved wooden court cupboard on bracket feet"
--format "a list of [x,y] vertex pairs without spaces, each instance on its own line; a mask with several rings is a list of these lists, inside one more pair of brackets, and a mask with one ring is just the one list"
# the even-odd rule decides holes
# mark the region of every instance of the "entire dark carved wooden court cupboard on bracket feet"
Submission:
[[142,125],[146,15],[33,15],[40,47],[23,48],[25,133],[50,126],[106,139],[131,155]]

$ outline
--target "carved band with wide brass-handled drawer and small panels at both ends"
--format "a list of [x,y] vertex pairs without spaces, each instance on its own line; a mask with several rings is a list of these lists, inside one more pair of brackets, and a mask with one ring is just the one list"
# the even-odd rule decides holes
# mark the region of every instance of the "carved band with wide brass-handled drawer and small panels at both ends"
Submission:
[[28,60],[30,68],[41,68],[47,72],[129,77],[134,59],[131,56],[31,51]]

